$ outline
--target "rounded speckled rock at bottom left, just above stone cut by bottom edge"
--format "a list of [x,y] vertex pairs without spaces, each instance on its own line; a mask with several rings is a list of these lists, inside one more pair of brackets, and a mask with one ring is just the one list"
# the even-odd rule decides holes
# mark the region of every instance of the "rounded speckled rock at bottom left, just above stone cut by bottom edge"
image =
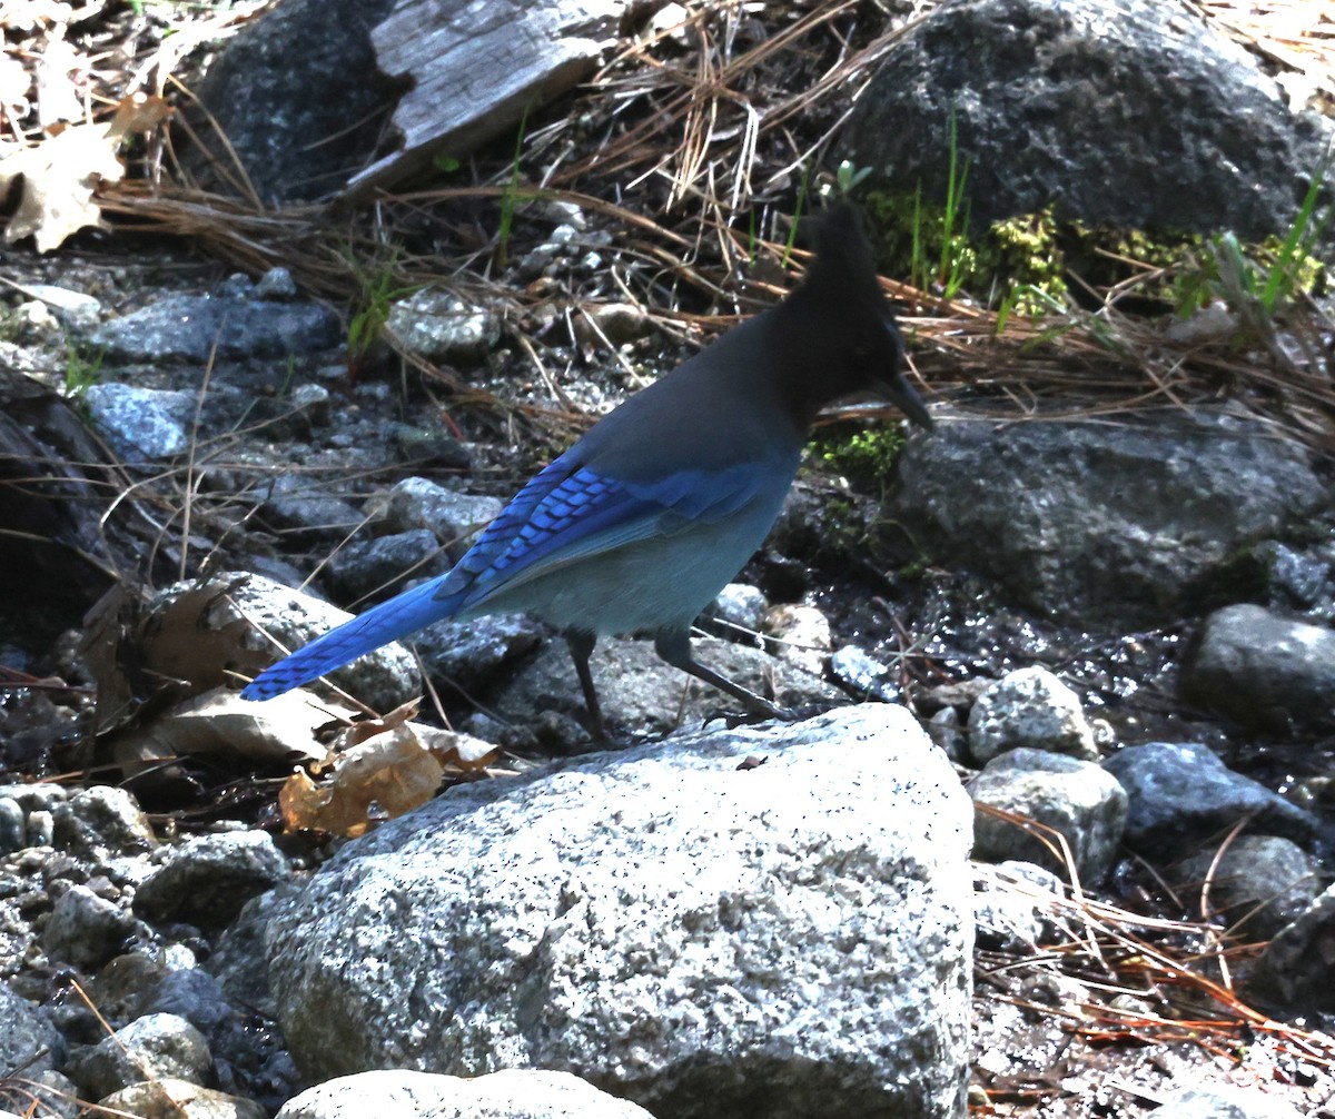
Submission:
[[212,1063],[204,1035],[186,1019],[151,1014],[71,1058],[68,1071],[85,1094],[103,1099],[140,1080],[164,1076],[199,1084]]

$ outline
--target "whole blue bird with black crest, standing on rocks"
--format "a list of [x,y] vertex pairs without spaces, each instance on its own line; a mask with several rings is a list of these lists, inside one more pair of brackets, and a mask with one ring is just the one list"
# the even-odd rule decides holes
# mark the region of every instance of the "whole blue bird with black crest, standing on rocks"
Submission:
[[537,474],[453,570],[374,606],[246,686],[267,700],[443,618],[526,612],[565,633],[595,733],[589,657],[605,634],[653,634],[668,664],[753,712],[782,708],[700,664],[690,626],[760,547],[817,413],[877,391],[932,418],[856,214],[816,220],[804,283],[635,394]]

